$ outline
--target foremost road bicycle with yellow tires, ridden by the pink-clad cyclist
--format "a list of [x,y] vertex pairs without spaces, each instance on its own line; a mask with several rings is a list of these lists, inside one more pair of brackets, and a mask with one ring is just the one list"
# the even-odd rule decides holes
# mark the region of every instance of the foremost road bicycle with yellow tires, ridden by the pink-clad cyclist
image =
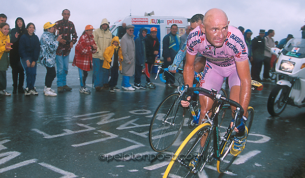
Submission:
[[[234,127],[240,124],[244,111],[237,102],[218,94],[216,90],[185,87],[183,92],[186,93],[186,90],[204,93],[215,102],[211,109],[211,115],[206,114],[203,124],[197,126],[178,147],[163,177],[195,177],[198,171],[201,172],[204,166],[212,160],[217,160],[217,170],[222,173],[236,159],[236,156],[230,153],[235,135],[232,132]],[[229,122],[226,123],[227,128],[220,126],[218,120],[220,110],[225,103],[236,107],[234,120],[232,120],[233,125],[230,124],[230,117]],[[253,123],[254,109],[250,106],[247,112],[246,126],[249,133]],[[220,129],[225,130],[221,132]]]

